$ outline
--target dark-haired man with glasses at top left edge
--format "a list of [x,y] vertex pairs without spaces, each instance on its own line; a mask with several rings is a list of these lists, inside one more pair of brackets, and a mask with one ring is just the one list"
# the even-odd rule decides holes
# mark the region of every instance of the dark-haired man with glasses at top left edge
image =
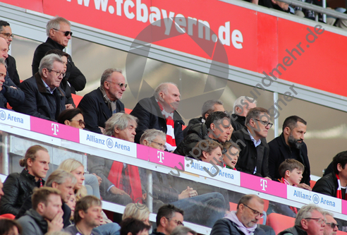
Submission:
[[[4,40],[6,40],[9,49],[12,42],[13,34],[10,24],[4,20],[0,20],[0,37],[3,37]],[[8,55],[6,59],[6,64],[9,78],[11,78],[11,80],[14,84],[16,84],[16,86],[18,86],[20,84],[20,80],[17,72],[16,59],[14,59],[13,56]]]

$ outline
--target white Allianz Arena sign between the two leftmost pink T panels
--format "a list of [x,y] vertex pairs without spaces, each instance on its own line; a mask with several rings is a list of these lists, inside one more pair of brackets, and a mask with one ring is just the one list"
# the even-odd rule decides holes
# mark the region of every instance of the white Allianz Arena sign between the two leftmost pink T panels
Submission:
[[117,152],[122,155],[136,157],[137,151],[135,143],[111,136],[80,130],[80,143],[83,145],[90,145],[104,150]]

